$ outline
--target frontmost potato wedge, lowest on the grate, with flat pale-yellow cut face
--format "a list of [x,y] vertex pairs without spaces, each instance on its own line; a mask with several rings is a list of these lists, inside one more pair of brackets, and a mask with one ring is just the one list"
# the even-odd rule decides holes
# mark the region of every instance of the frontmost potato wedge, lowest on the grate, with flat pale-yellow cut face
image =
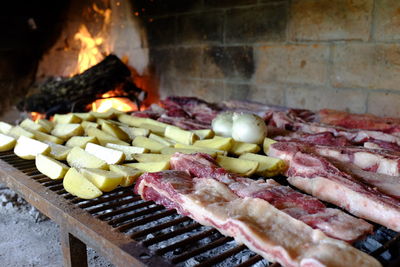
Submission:
[[75,168],[70,168],[67,171],[63,185],[67,192],[83,199],[93,199],[103,194],[100,189]]

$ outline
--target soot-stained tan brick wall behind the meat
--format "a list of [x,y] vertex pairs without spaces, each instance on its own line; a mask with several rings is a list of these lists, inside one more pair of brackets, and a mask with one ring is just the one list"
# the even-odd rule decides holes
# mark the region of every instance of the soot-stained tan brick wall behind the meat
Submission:
[[136,0],[166,95],[400,116],[398,0]]

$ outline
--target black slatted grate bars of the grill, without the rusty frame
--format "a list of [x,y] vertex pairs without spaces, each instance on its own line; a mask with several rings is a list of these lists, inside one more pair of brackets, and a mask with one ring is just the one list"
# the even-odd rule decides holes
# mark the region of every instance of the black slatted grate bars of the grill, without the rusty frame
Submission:
[[[62,196],[70,206],[85,210],[114,231],[147,247],[152,253],[141,254],[141,259],[158,255],[178,266],[279,266],[268,263],[211,227],[202,226],[152,201],[143,201],[133,194],[132,187],[121,187],[97,199],[84,200],[66,192],[62,180],[52,180],[38,172],[34,161],[20,159],[13,153],[0,153],[0,159]],[[354,245],[385,266],[399,262],[400,234],[383,226],[375,225],[373,234]]]

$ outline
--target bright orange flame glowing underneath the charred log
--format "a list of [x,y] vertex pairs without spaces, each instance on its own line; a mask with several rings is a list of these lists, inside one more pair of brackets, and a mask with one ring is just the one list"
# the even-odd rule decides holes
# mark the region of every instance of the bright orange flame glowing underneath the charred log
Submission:
[[129,112],[137,110],[136,105],[130,101],[128,98],[124,97],[113,97],[113,96],[121,96],[119,90],[108,91],[103,94],[101,97],[107,99],[98,99],[94,101],[91,105],[93,111],[97,112],[106,112],[110,108],[115,108],[119,111]]

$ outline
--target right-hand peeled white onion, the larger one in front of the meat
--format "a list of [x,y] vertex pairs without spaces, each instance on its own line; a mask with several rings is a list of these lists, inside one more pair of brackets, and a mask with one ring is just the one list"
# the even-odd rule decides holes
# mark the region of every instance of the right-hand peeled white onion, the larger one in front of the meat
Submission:
[[261,144],[267,135],[267,126],[257,115],[234,113],[232,120],[232,137],[236,141]]

